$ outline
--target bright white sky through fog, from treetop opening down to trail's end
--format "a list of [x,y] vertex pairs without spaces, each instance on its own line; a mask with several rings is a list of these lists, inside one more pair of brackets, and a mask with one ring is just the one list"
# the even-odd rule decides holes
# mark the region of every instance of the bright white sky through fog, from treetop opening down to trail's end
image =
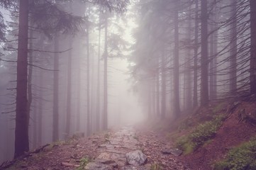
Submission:
[[[129,16],[130,8],[131,6],[128,8],[126,16]],[[125,29],[122,37],[130,44],[135,43],[133,29],[136,28],[137,25],[134,21],[135,19],[130,17],[126,17],[126,23],[118,19],[118,25]],[[114,59],[109,62],[110,125],[119,123],[119,125],[122,126],[143,120],[138,98],[131,90],[132,84],[131,81],[129,81],[128,65],[128,60]]]

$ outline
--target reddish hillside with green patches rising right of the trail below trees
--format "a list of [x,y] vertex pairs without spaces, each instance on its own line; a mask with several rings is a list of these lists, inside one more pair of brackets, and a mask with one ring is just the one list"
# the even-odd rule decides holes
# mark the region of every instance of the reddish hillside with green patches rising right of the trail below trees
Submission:
[[148,127],[158,140],[182,149],[179,159],[190,169],[256,169],[255,101],[221,101]]

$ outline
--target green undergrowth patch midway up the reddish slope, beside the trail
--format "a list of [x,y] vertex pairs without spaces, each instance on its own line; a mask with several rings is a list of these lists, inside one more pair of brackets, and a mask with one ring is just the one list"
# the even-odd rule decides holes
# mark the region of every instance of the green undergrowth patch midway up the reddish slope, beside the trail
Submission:
[[176,146],[182,149],[184,154],[193,152],[216,135],[225,119],[226,115],[217,115],[213,120],[198,125],[189,135],[179,137]]

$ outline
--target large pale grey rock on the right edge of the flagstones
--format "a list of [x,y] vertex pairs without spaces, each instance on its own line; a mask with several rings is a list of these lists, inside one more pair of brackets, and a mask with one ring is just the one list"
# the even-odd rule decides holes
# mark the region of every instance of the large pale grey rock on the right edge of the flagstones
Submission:
[[135,150],[126,154],[126,160],[128,164],[139,166],[147,161],[147,156],[141,150]]

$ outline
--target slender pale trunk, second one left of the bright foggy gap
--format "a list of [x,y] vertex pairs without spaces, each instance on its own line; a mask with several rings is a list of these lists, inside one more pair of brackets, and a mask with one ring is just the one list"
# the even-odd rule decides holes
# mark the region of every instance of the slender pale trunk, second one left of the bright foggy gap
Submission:
[[100,130],[100,113],[101,113],[101,99],[100,99],[100,61],[101,61],[101,26],[99,26],[99,47],[98,47],[98,64],[97,64],[97,106],[96,106],[96,131]]

